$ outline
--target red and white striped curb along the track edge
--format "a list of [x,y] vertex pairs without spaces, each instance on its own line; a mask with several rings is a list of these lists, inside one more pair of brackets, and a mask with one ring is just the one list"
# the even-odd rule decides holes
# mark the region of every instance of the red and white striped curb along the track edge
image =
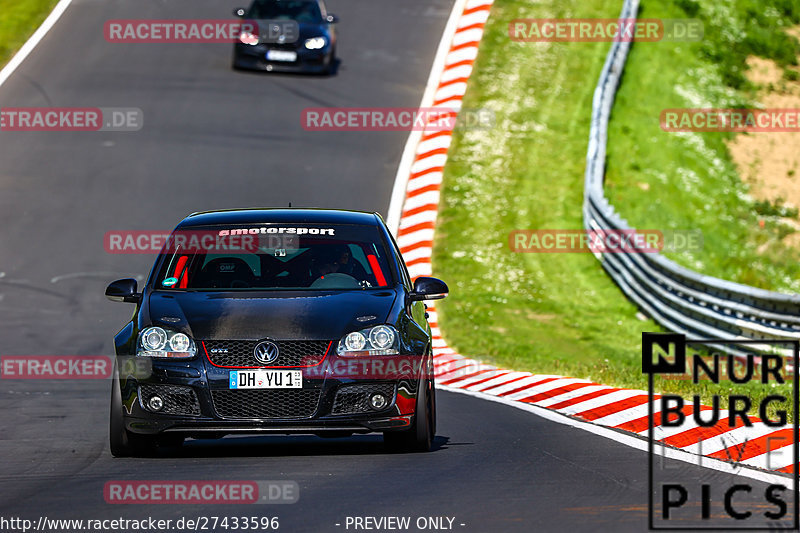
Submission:
[[[492,1],[456,2],[421,107],[461,108]],[[418,135],[412,133],[398,171],[389,226],[396,233],[412,278],[432,273],[433,235],[452,133],[452,130],[441,131],[440,127],[426,129]],[[484,398],[496,398],[503,403],[512,401],[546,408],[574,420],[611,428],[617,434],[624,434],[619,433],[621,431],[647,437],[647,392],[609,387],[585,379],[514,372],[480,363],[449,348],[442,338],[436,309],[431,306],[428,313],[433,330],[437,384]],[[752,427],[744,427],[741,421],[734,428],[728,427],[727,422],[700,427],[692,421],[691,405],[683,410],[686,421],[681,427],[665,427],[661,425],[659,403],[654,405],[655,438],[673,449],[759,469],[794,471],[791,429],[776,431],[756,418],[751,418]],[[701,407],[701,410],[706,409],[710,408]],[[720,412],[720,420],[724,421],[727,414],[727,411]],[[623,440],[644,449],[631,444],[631,439]]]

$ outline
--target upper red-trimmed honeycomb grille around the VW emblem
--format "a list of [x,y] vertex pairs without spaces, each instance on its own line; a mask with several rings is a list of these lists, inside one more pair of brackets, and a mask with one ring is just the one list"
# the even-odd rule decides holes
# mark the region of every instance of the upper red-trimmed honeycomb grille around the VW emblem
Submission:
[[[329,341],[274,341],[280,355],[269,365],[256,360],[253,354],[261,341],[203,341],[212,364],[223,367],[270,368],[279,366],[314,366],[325,358]],[[227,353],[215,352],[227,350]]]

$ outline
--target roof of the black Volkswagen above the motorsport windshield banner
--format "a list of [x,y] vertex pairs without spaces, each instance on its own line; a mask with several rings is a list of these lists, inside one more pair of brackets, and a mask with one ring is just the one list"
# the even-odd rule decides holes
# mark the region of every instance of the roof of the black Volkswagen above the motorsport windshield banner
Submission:
[[366,224],[375,226],[379,218],[375,213],[344,211],[338,209],[227,209],[192,213],[184,218],[179,228],[215,226],[222,224]]

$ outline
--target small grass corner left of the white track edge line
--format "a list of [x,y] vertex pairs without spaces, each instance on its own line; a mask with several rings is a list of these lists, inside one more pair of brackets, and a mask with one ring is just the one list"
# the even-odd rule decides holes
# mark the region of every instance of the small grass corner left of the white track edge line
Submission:
[[0,0],[0,67],[28,40],[58,0]]

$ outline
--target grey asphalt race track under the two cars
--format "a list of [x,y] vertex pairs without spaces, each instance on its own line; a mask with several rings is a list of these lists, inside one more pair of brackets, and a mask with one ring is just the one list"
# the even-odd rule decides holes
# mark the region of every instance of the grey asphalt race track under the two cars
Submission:
[[[133,306],[103,290],[145,276],[153,257],[106,253],[107,231],[289,202],[386,214],[407,134],[309,132],[300,114],[418,105],[452,2],[331,0],[341,19],[333,77],[233,72],[227,44],[103,38],[108,19],[228,18],[240,3],[76,0],[0,88],[0,107],[138,107],[145,121],[136,133],[0,133],[0,354],[111,353]],[[465,395],[439,392],[430,454],[387,454],[379,436],[239,437],[152,459],[111,457],[108,396],[103,380],[0,381],[0,516],[257,514],[278,516],[282,531],[343,531],[347,516],[449,516],[463,531],[646,529],[645,453]],[[726,476],[673,466],[698,481]],[[300,501],[103,499],[109,480],[154,479],[294,480]]]

